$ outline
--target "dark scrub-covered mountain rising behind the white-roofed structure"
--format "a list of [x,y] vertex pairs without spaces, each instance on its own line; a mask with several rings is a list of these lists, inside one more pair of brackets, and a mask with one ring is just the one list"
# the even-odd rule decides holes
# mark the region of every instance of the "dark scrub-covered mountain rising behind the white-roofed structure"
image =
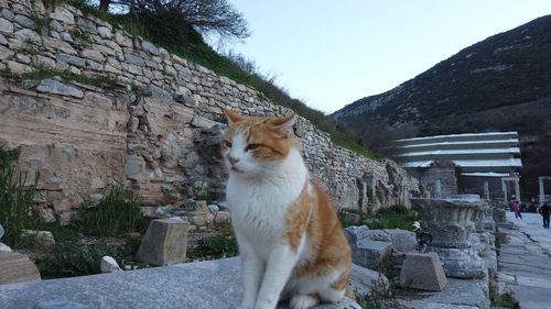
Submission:
[[381,124],[399,137],[517,131],[521,176],[533,195],[534,177],[551,175],[551,15],[468,46],[332,117],[365,139],[382,134]]

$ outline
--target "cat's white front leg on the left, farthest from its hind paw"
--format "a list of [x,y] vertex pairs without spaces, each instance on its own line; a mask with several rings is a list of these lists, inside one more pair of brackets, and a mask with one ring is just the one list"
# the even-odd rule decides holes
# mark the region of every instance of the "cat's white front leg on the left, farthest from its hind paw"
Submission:
[[244,296],[238,309],[253,309],[266,265],[245,241],[239,242]]

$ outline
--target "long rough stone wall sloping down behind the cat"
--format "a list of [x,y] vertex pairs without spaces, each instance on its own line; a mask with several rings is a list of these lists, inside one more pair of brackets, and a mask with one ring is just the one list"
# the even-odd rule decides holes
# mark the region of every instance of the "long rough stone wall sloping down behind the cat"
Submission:
[[[47,19],[50,29],[40,29],[33,16]],[[41,172],[42,201],[60,218],[83,200],[100,198],[114,180],[128,183],[150,207],[197,196],[222,199],[222,108],[255,115],[292,112],[73,7],[0,0],[0,69],[23,74],[45,67],[118,81],[90,87],[60,78],[1,80],[0,142],[23,145],[20,163]],[[392,161],[335,146],[303,118],[295,133],[337,207],[372,211],[409,205],[418,192],[418,181]]]

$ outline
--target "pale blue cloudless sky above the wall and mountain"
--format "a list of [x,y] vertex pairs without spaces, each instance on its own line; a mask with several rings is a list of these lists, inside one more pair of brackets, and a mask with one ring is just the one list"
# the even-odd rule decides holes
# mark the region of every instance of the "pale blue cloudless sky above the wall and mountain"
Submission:
[[551,0],[228,0],[252,35],[227,48],[329,113],[536,18]]

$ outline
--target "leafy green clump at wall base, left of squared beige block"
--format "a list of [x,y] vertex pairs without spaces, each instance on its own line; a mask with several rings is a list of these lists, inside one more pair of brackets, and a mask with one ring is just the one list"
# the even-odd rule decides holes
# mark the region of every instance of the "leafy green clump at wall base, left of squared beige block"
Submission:
[[80,229],[104,236],[136,232],[143,220],[141,206],[141,197],[134,196],[123,185],[116,185],[97,207],[82,208]]

